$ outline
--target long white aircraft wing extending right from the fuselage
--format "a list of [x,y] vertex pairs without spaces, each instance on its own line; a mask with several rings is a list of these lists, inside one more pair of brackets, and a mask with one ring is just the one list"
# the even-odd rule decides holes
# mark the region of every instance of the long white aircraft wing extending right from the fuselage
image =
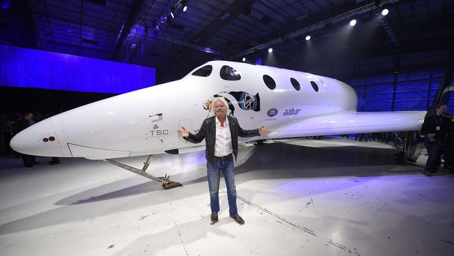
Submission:
[[[268,138],[291,138],[334,134],[361,134],[383,131],[417,131],[426,111],[339,112],[291,120],[277,127],[266,127]],[[267,136],[263,136],[267,138]]]

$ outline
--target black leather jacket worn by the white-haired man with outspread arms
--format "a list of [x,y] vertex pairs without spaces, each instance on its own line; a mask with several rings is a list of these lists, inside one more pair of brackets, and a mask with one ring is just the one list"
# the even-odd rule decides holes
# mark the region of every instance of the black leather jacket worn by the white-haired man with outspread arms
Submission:
[[[202,126],[197,134],[189,133],[189,136],[184,138],[191,143],[200,143],[205,138],[206,148],[205,155],[207,161],[213,162],[214,160],[214,144],[216,143],[216,116],[203,120]],[[245,130],[238,124],[237,118],[228,115],[228,126],[230,127],[230,135],[232,136],[232,149],[235,160],[238,154],[238,136],[240,137],[254,137],[260,136],[258,129]]]

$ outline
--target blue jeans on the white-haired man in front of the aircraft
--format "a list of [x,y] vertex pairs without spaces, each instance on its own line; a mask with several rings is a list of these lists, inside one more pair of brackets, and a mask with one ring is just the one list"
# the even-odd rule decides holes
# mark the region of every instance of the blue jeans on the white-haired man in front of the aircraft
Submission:
[[237,209],[237,190],[235,187],[235,171],[233,170],[233,156],[214,157],[213,162],[207,161],[208,187],[210,189],[211,212],[219,212],[219,180],[221,172],[226,180],[228,212],[236,215]]

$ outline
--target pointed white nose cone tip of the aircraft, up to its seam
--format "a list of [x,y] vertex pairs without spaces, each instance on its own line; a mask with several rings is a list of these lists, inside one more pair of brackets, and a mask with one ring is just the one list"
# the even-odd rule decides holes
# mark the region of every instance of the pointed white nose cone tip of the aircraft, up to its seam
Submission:
[[47,118],[31,127],[20,131],[10,141],[10,147],[16,152],[42,157],[67,157],[69,150],[61,132],[59,122]]

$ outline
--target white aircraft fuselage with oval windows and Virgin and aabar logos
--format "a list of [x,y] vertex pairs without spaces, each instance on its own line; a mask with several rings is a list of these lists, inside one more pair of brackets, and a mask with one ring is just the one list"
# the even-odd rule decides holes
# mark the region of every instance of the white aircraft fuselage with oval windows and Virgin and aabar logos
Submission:
[[[208,65],[212,66],[210,76],[193,76],[192,73],[199,67],[180,80],[55,115],[22,131],[13,138],[11,146],[29,155],[89,159],[150,155],[192,148],[198,145],[184,141],[177,135],[177,129],[185,127],[192,133],[197,132],[209,115],[203,104],[214,95],[230,101],[243,129],[265,125],[271,134],[263,138],[284,137],[288,127],[295,127],[301,120],[356,111],[356,92],[339,80],[238,62],[213,61],[203,66]],[[221,78],[222,66],[232,67],[241,78]],[[264,75],[274,79],[274,90],[265,85]],[[295,89],[291,78],[298,81],[300,90]],[[314,83],[318,91],[312,85]],[[257,94],[258,97],[255,97]],[[341,133],[336,129],[323,134]],[[318,135],[314,129],[310,132],[295,130],[295,134]],[[48,139],[51,136],[54,141]],[[243,142],[256,139],[258,137],[247,138]]]

